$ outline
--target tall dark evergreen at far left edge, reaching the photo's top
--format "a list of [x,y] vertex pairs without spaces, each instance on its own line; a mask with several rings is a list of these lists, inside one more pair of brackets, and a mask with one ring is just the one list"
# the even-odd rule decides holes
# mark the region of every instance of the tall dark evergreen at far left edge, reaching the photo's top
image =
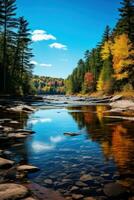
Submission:
[[15,0],[0,0],[0,31],[1,31],[1,88],[3,92],[7,92],[8,75],[10,67],[10,55],[12,47],[14,46],[16,19]]

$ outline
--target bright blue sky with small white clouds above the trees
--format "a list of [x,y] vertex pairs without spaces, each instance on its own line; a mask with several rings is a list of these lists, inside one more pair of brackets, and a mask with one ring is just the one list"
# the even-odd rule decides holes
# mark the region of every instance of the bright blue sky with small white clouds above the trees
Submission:
[[34,74],[66,78],[114,27],[120,0],[17,0],[18,15],[29,21]]

